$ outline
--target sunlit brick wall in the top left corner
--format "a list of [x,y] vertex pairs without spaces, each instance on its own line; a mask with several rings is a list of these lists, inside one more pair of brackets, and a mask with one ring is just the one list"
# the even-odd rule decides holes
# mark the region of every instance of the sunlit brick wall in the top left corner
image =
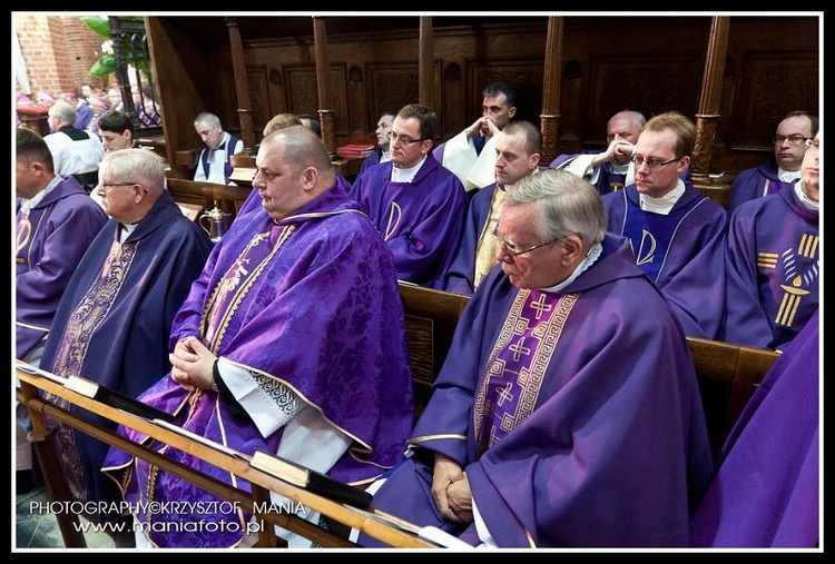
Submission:
[[32,92],[79,91],[85,82],[106,89],[115,81],[112,76],[99,79],[87,73],[101,57],[105,39],[78,17],[16,14],[13,23]]

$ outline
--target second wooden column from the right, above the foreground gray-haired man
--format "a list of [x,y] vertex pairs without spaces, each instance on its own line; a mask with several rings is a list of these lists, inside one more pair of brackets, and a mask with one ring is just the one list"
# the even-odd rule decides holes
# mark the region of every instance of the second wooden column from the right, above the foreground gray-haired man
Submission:
[[542,155],[540,165],[548,166],[557,158],[557,141],[560,125],[560,89],[562,88],[562,31],[563,19],[560,16],[548,17],[548,37],[546,38],[546,68],[542,85]]

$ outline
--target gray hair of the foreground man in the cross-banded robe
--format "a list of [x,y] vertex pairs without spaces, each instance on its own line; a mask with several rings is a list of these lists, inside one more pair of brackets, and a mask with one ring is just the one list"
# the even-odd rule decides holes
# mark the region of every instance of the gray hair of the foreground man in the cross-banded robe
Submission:
[[576,235],[588,249],[603,240],[607,230],[603,202],[597,190],[583,178],[566,170],[544,170],[529,175],[508,191],[502,208],[536,204],[542,240]]

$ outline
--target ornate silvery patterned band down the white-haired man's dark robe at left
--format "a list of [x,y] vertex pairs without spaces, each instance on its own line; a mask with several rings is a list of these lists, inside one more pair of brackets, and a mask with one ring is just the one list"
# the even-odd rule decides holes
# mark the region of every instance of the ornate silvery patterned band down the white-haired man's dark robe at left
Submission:
[[[96,333],[99,323],[110,313],[110,308],[119,296],[122,284],[127,278],[130,265],[136,256],[137,244],[119,244],[114,241],[110,254],[101,267],[101,274],[96,283],[79,301],[72,315],[71,321],[63,332],[63,338],[56,352],[52,372],[65,376],[81,374],[87,357],[87,348],[90,336]],[[84,315],[76,315],[82,311]],[[46,399],[69,409],[69,402],[52,394],[45,394]],[[76,433],[72,427],[63,423],[50,419],[55,427],[56,454],[61,459],[61,466],[67,477],[67,484],[76,499],[88,501],[87,484],[85,482],[84,466],[76,443]]]

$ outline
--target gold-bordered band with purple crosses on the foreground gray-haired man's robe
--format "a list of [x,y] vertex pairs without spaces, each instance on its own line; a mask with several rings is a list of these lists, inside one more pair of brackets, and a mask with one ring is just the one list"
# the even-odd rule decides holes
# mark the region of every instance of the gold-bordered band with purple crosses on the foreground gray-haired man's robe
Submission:
[[481,456],[533,413],[577,294],[520,290],[479,382],[473,405]]

